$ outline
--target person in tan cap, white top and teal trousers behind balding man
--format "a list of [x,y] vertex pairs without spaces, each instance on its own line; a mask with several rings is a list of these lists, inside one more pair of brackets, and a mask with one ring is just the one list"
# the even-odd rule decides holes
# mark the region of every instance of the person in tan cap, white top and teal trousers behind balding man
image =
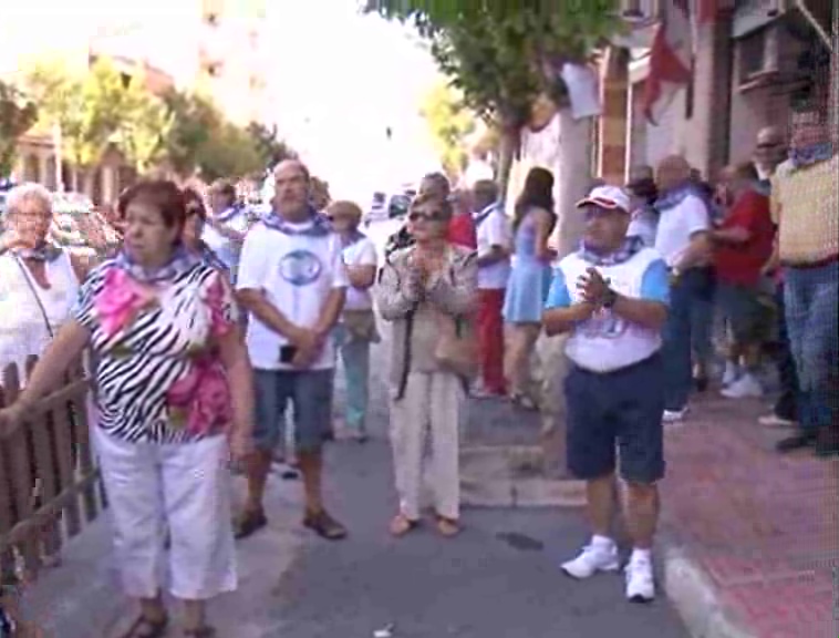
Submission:
[[370,346],[379,340],[370,288],[376,276],[373,240],[359,230],[362,210],[352,202],[333,202],[327,209],[332,227],[341,236],[350,287],[335,340],[344,364],[346,397],[344,425],[359,443],[367,440],[366,415],[370,387]]

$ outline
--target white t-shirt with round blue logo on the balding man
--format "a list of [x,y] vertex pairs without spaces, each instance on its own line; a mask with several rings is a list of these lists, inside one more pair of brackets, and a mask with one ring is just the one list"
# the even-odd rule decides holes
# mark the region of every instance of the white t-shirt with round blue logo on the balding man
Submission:
[[[288,226],[300,231],[311,223]],[[236,288],[262,290],[268,302],[296,326],[314,328],[332,290],[348,286],[341,239],[334,233],[290,235],[259,224],[245,238]],[[252,315],[246,343],[253,368],[293,369],[280,362],[280,348],[288,344],[288,339]],[[309,369],[328,370],[334,366],[335,348],[332,339],[328,339]]]

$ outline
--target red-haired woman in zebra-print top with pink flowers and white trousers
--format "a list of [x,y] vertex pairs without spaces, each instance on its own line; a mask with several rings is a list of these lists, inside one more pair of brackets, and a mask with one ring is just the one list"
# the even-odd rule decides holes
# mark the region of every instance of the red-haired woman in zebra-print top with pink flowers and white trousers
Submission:
[[159,563],[185,636],[206,638],[206,601],[237,586],[228,454],[247,453],[252,371],[226,278],[183,245],[186,200],[172,182],[125,195],[125,248],[82,286],[72,318],[0,424],[18,422],[81,352],[95,353],[93,428],[118,567],[142,615],[130,636],[166,634]]

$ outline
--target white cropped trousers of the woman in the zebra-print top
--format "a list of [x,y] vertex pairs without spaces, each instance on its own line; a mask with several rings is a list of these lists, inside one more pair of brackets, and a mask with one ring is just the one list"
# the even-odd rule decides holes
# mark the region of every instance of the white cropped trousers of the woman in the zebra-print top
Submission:
[[237,586],[225,436],[183,444],[130,443],[93,428],[125,591],[160,590],[164,524],[172,595],[206,600]]

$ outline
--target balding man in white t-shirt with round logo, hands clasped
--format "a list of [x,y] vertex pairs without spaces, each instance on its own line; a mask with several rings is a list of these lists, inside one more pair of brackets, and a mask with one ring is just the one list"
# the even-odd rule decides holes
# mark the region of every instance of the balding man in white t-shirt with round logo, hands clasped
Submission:
[[256,380],[257,454],[248,467],[248,502],[237,537],[267,524],[262,495],[272,451],[284,440],[293,404],[296,451],[305,490],[303,525],[329,539],[346,536],[323,507],[322,446],[332,435],[332,330],[348,278],[341,239],[310,204],[310,176],[297,161],[275,168],[273,209],[245,239],[237,289],[249,312],[247,346]]

